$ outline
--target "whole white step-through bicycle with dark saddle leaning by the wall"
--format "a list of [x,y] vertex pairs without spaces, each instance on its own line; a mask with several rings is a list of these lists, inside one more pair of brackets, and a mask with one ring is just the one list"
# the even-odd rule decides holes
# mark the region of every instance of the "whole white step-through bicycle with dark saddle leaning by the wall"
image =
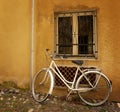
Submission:
[[[46,52],[49,54],[48,49]],[[107,76],[100,70],[83,69],[82,60],[73,60],[73,63],[78,66],[73,81],[68,81],[59,70],[54,60],[55,56],[49,55],[51,58],[49,67],[39,70],[33,78],[32,94],[37,102],[44,102],[52,94],[55,75],[58,76],[69,90],[66,98],[68,98],[72,92],[75,92],[84,103],[90,106],[99,106],[108,100],[110,92],[112,91],[112,84]],[[81,73],[79,77],[78,73]]]

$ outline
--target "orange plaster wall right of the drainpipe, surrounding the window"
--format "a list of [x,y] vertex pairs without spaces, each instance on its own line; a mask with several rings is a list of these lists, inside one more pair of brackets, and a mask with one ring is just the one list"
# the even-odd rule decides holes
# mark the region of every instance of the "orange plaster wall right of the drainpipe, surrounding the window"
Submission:
[[[111,99],[120,100],[120,2],[118,0],[38,0],[36,1],[36,71],[46,66],[45,49],[53,50],[54,12],[97,9],[98,59],[89,65],[98,66],[112,80]],[[70,61],[62,61],[67,64]]]

